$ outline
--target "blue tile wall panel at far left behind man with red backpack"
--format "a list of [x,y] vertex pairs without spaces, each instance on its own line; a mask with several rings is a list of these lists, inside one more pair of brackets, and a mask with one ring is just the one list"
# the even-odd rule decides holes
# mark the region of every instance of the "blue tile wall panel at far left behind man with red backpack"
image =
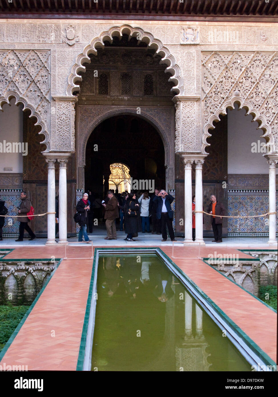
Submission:
[[[0,189],[0,198],[5,201],[7,215],[17,215],[17,207],[21,204],[22,189]],[[18,237],[19,222],[17,218],[5,218],[3,237]]]

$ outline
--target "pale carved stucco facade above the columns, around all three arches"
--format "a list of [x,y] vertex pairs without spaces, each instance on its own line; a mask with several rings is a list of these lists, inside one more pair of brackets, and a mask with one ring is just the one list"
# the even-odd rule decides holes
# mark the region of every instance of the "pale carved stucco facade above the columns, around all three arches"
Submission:
[[[71,36],[67,32],[69,25],[72,25]],[[162,45],[166,48],[164,52],[161,50],[161,54],[168,54],[165,57],[169,64],[166,71],[175,76],[171,79],[177,85],[176,91],[185,98],[182,104],[176,103],[177,113],[180,112],[176,116],[176,152],[205,153],[206,138],[209,137],[207,129],[213,127],[213,120],[225,112],[227,106],[233,106],[234,100],[247,104],[255,117],[262,117],[261,127],[265,135],[273,142],[274,139],[278,141],[278,29],[274,23],[1,21],[0,105],[13,94],[17,100],[22,98],[24,106],[31,110],[42,127],[46,151],[75,150],[74,101],[65,101],[61,97],[69,98],[69,92],[72,94],[78,89],[74,86],[73,76],[78,73],[77,66],[82,64],[82,58],[86,58],[81,54],[86,54],[87,50],[95,53],[94,44],[101,46],[96,38],[114,27],[114,34],[119,35],[123,25],[123,33],[138,27],[145,32],[144,37],[139,35],[140,40],[147,43],[159,40],[160,48]],[[189,39],[192,27],[198,33],[195,42]],[[103,39],[109,34],[106,38],[102,35]],[[157,48],[154,44],[151,46]],[[82,66],[79,69],[84,71]],[[69,79],[70,75],[72,79]],[[76,169],[72,171],[74,173]],[[222,167],[219,174],[227,177],[223,173]],[[70,178],[74,184],[76,175]],[[179,168],[173,170],[173,181],[183,178],[184,167],[181,172]],[[207,191],[215,189],[222,200],[227,200],[219,187],[221,179],[215,177],[211,186],[210,181],[206,181]],[[21,189],[21,186],[16,188]],[[71,186],[70,190],[73,205],[75,187]],[[176,208],[182,208],[182,185],[176,185],[175,190]],[[35,195],[35,191],[33,193]],[[182,213],[177,214],[178,218],[182,218]]]

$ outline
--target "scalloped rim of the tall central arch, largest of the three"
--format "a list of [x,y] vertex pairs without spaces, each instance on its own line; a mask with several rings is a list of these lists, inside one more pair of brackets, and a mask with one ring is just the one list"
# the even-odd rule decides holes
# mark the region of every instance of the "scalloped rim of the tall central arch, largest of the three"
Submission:
[[171,91],[176,92],[179,95],[184,94],[184,83],[181,75],[180,67],[176,64],[176,60],[174,59],[171,52],[163,46],[162,42],[158,39],[155,39],[153,35],[149,32],[145,32],[140,27],[133,28],[130,25],[122,25],[120,27],[111,27],[108,31],[102,32],[98,37],[92,39],[90,44],[88,44],[82,54],[79,54],[76,58],[76,63],[73,65],[71,69],[71,74],[68,77],[68,86],[66,93],[71,96],[75,91],[79,91],[80,87],[76,83],[78,81],[82,81],[82,77],[78,74],[79,72],[85,72],[86,68],[83,64],[89,63],[90,54],[97,55],[98,48],[104,48],[104,41],[109,41],[110,43],[113,41],[113,36],[123,37],[123,34],[127,34],[129,36],[128,40],[132,37],[138,38],[138,44],[143,41],[148,44],[148,48],[152,48],[155,50],[156,54],[162,57],[161,63],[167,64],[167,68],[165,69],[165,73],[169,72],[172,74],[169,81],[172,81],[175,86],[172,87]]

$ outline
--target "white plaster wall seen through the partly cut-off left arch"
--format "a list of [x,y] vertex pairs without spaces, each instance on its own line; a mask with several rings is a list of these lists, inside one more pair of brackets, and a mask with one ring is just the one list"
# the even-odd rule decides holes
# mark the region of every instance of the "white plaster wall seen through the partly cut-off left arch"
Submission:
[[[4,104],[3,112],[0,112],[0,142],[23,142],[23,105],[16,106],[15,99],[11,100],[11,106]],[[12,171],[4,171],[11,167]],[[22,153],[0,152],[0,173],[22,173]]]

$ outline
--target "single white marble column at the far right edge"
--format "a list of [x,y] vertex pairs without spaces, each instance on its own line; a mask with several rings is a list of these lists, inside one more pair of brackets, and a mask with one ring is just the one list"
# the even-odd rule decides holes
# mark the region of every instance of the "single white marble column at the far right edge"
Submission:
[[[268,155],[269,166],[269,212],[276,211],[276,164],[278,163],[278,155]],[[269,245],[277,247],[276,240],[276,214],[269,215]]]

